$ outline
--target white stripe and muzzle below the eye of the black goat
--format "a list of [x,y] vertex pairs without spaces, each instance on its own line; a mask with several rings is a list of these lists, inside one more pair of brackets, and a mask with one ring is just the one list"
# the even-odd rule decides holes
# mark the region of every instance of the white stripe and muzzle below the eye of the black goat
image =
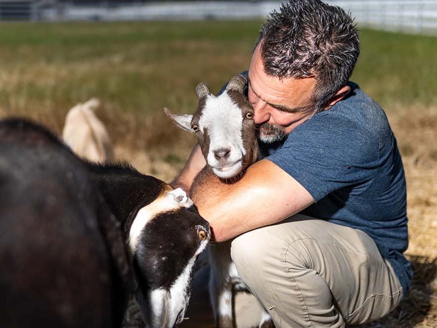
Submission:
[[[193,257],[188,261],[184,270],[170,290],[154,289],[149,294],[152,307],[152,327],[173,328],[182,323],[188,306],[190,290],[188,288],[193,274],[196,257],[206,248],[208,240],[203,240]],[[177,320],[177,322],[176,322]]]

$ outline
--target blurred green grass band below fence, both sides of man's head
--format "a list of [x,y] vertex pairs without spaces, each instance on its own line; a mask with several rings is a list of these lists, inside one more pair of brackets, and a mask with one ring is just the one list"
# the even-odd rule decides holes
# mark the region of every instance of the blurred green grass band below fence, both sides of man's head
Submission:
[[[192,110],[198,82],[217,91],[248,67],[260,23],[1,23],[0,106]],[[361,42],[352,80],[383,107],[436,106],[437,38],[363,29]]]

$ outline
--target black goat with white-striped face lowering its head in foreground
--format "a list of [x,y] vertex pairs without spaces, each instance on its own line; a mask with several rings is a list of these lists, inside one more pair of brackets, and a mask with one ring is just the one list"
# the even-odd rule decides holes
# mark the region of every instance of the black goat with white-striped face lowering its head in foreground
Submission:
[[173,328],[210,230],[182,189],[5,120],[0,234],[0,327],[121,327],[133,292],[146,325]]

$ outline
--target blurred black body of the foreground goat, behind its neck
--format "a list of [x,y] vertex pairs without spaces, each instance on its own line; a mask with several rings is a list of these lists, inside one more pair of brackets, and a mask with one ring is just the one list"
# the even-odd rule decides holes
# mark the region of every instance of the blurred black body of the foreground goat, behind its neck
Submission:
[[1,327],[120,326],[114,304],[125,293],[102,233],[110,216],[61,141],[26,121],[0,122]]

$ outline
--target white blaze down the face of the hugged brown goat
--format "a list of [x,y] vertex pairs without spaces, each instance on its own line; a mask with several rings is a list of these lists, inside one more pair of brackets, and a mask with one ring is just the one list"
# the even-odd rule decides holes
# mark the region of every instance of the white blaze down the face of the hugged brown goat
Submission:
[[[210,95],[199,119],[199,129],[208,134],[210,147],[207,161],[216,175],[229,178],[237,174],[242,167],[242,159],[246,154],[243,147],[241,130],[243,115],[241,109],[231,97],[224,92],[219,96]],[[214,151],[229,149],[226,159],[218,160]]]

